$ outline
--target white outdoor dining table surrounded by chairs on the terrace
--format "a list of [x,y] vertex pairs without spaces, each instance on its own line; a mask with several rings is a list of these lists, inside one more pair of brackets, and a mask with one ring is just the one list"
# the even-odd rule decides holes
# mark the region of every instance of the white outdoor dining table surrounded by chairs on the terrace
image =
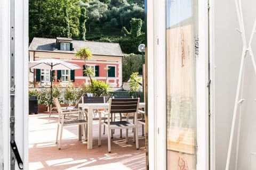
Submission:
[[[93,109],[108,109],[109,103],[81,103],[79,108],[86,109],[88,112],[87,126],[87,148],[92,149],[92,132],[93,132]],[[145,103],[139,103],[139,108],[145,108]],[[79,125],[81,126],[81,125]],[[82,127],[78,130],[78,139],[82,140]]]

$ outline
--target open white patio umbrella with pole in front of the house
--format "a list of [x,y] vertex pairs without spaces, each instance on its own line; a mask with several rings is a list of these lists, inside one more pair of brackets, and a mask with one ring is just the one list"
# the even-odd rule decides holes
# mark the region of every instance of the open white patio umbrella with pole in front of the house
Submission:
[[52,70],[75,70],[82,69],[82,67],[56,59],[44,59],[28,62],[29,69],[47,69],[50,70],[51,81],[51,102],[52,102]]

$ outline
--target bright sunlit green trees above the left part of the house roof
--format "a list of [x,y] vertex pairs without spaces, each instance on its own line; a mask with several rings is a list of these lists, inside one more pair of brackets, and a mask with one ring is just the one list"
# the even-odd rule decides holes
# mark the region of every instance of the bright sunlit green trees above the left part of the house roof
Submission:
[[34,37],[77,37],[79,0],[30,0],[29,41]]

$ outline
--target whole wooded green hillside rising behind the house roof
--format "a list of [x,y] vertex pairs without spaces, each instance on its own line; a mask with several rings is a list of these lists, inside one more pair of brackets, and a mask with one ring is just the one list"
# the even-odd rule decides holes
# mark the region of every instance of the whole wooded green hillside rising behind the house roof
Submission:
[[[146,43],[143,7],[141,0],[29,0],[29,42],[34,37],[86,38],[119,43],[124,53],[136,54]],[[133,18],[141,23],[133,25]]]

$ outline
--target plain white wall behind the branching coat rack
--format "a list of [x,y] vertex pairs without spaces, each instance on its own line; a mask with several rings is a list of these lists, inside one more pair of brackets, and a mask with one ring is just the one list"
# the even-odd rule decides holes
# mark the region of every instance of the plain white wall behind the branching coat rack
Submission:
[[[247,42],[256,17],[255,5],[256,1],[253,0],[242,1]],[[212,68],[212,75],[214,75],[212,82],[215,89],[212,94],[215,119],[215,169],[225,169],[243,44],[240,33],[235,30],[235,28],[239,28],[235,1],[215,0],[211,10],[213,27],[210,41],[213,42],[213,46],[210,48],[213,59],[212,66],[215,66]],[[254,47],[253,52],[256,55],[255,46],[256,41],[254,40],[252,47]],[[244,69],[242,91],[245,101],[242,104],[241,112],[241,137],[239,138],[237,169],[250,169],[250,152],[256,152],[256,135],[254,133],[256,108],[255,101],[253,101],[256,98],[256,76],[253,73],[250,56],[245,58]],[[235,169],[236,134],[237,130],[235,130],[229,169]]]

